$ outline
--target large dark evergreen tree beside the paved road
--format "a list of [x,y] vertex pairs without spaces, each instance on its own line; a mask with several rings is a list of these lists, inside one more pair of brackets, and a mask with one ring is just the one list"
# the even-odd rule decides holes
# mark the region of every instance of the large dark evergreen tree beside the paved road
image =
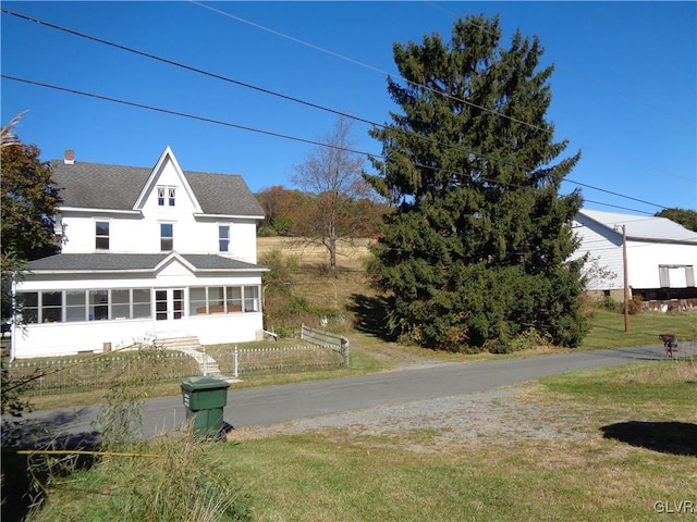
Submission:
[[557,161],[546,120],[551,66],[537,37],[500,47],[498,16],[394,45],[401,108],[370,134],[382,142],[366,178],[398,211],[374,249],[390,326],[423,346],[506,349],[536,332],[576,346],[585,333],[571,223],[578,192],[559,194],[580,153]]

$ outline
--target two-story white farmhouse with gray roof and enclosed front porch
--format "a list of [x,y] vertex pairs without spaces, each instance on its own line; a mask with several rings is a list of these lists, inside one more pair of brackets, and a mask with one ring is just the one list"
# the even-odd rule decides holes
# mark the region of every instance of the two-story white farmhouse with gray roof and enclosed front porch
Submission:
[[172,150],[155,167],[52,163],[61,253],[15,284],[24,326],[14,358],[101,352],[135,339],[248,341],[262,332],[256,223],[237,175],[184,172]]

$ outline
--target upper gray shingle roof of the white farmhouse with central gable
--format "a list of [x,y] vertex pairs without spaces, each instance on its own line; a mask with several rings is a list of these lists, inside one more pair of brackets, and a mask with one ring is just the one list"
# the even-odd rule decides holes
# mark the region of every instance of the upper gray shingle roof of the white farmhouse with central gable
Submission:
[[[154,174],[154,169],[148,167],[81,161],[65,164],[63,160],[51,161],[51,170],[53,184],[63,198],[62,208],[119,211],[134,210]],[[264,217],[261,206],[242,176],[191,171],[183,174],[204,214]]]

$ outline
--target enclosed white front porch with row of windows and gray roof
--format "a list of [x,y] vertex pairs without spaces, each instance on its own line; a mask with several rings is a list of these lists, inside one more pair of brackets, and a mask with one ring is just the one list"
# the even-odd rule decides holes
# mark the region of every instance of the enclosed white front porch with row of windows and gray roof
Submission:
[[265,270],[176,252],[34,261],[15,283],[12,357],[101,352],[143,337],[197,337],[201,345],[254,340],[262,331]]

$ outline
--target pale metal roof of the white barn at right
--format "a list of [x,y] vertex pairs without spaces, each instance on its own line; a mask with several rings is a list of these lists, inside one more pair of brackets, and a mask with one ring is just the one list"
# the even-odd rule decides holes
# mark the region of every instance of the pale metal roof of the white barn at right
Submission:
[[697,245],[697,232],[689,231],[668,217],[585,209],[579,210],[578,214],[619,235],[622,234],[621,226],[625,225],[629,240]]

